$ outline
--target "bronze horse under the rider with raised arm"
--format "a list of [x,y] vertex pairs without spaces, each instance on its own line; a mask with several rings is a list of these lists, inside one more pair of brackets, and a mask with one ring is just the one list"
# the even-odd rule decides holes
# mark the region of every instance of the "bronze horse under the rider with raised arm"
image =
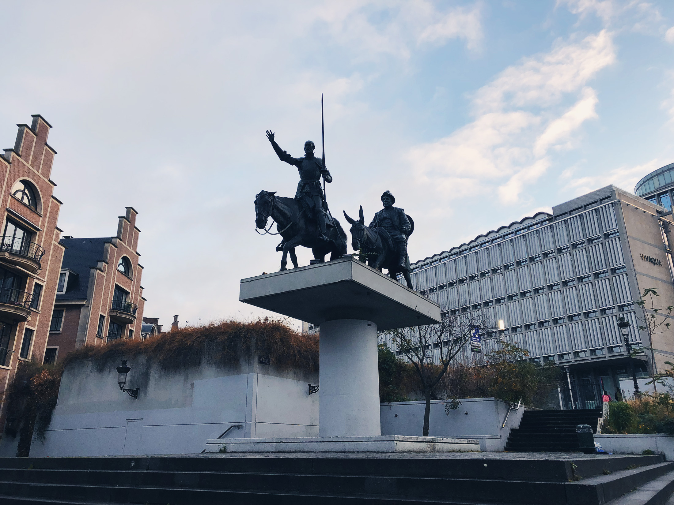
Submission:
[[[328,253],[331,253],[331,260],[346,255],[346,233],[342,230],[342,225],[338,220],[332,218],[334,226],[328,223],[328,242],[319,240],[315,219],[307,216],[305,207],[297,199],[277,197],[276,191],[260,191],[255,195],[255,226],[264,230],[270,217],[276,221],[276,230],[278,230],[278,233],[272,233],[272,235],[280,234],[283,238],[276,247],[276,250],[283,251],[281,270],[287,270],[288,253],[290,253],[290,261],[293,261],[295,268],[299,266],[295,254],[297,246],[310,248],[314,259],[321,263],[325,261]],[[270,232],[266,230],[265,233]]]

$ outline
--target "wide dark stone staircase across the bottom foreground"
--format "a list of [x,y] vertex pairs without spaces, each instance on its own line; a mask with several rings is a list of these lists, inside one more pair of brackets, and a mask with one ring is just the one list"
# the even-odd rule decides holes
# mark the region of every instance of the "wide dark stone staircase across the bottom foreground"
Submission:
[[0,459],[3,505],[620,505],[641,487],[646,500],[631,504],[664,504],[674,463],[540,453]]

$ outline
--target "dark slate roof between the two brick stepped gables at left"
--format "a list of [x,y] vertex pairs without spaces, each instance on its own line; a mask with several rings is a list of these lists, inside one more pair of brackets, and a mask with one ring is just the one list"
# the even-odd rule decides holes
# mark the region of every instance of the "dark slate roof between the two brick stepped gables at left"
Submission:
[[96,267],[98,260],[103,259],[103,244],[110,241],[110,237],[61,238],[59,240],[59,244],[66,247],[61,268],[75,272],[77,275],[72,273],[69,275],[65,293],[57,294],[56,303],[86,299],[90,269]]

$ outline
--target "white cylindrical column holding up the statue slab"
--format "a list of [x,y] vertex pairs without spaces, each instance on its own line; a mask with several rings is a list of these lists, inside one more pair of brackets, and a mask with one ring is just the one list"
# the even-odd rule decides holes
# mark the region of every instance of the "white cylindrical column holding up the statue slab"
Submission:
[[379,436],[377,325],[321,324],[319,436]]

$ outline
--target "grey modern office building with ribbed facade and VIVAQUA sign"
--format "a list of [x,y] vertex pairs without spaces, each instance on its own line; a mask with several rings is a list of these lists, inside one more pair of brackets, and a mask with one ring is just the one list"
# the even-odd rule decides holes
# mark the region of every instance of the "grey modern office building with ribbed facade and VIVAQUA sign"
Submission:
[[[603,386],[613,395],[631,364],[646,376],[674,356],[674,328],[650,342],[634,303],[644,288],[656,288],[661,306],[674,306],[674,220],[659,205],[669,203],[668,186],[653,182],[667,170],[674,164],[637,187],[650,184],[643,194],[656,195],[655,202],[607,186],[553,207],[552,214],[537,213],[417,261],[412,283],[443,312],[481,311],[494,328],[485,352],[507,339],[535,362],[568,366],[574,386]],[[657,350],[628,358],[619,316],[630,323],[630,343]],[[470,364],[470,346],[457,359]]]

